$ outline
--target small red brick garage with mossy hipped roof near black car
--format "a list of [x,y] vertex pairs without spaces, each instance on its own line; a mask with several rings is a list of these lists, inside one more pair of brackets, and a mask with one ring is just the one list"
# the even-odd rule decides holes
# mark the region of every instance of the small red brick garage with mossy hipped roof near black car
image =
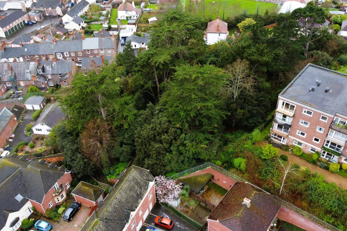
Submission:
[[105,198],[105,189],[85,183],[79,182],[76,188],[71,192],[75,200],[83,205],[94,207],[99,205],[99,201]]

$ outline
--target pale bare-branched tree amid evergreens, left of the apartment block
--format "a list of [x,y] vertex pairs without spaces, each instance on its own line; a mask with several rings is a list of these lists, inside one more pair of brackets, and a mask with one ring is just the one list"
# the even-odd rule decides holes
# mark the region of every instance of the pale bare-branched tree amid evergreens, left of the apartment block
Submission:
[[253,92],[254,78],[249,75],[249,64],[245,60],[237,59],[231,65],[227,65],[224,72],[228,75],[226,83],[222,87],[222,95],[233,97],[234,100],[240,92]]

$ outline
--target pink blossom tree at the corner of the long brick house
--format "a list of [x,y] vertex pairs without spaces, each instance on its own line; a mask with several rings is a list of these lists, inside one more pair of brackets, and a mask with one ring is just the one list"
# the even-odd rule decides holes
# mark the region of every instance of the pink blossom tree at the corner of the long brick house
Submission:
[[178,197],[178,193],[182,186],[175,183],[174,180],[167,179],[164,176],[154,178],[156,199],[160,203],[170,203],[174,198]]

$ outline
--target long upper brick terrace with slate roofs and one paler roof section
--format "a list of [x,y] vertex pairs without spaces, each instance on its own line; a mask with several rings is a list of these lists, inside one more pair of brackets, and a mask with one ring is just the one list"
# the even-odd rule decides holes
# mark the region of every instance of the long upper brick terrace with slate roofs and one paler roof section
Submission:
[[19,47],[7,47],[6,42],[1,43],[0,63],[3,62],[31,62],[39,61],[72,60],[81,62],[86,57],[110,57],[116,54],[116,39],[85,38],[56,41],[53,37],[52,43],[19,44]]

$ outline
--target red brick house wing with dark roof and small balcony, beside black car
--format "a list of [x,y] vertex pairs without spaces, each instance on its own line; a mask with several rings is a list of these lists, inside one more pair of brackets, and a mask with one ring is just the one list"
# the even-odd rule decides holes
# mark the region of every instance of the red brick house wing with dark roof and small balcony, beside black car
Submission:
[[72,178],[64,166],[58,167],[54,162],[48,164],[44,159],[29,161],[17,154],[4,158],[3,161],[21,168],[26,192],[26,195],[22,196],[28,199],[37,211],[45,213],[48,208],[61,205],[65,201]]

